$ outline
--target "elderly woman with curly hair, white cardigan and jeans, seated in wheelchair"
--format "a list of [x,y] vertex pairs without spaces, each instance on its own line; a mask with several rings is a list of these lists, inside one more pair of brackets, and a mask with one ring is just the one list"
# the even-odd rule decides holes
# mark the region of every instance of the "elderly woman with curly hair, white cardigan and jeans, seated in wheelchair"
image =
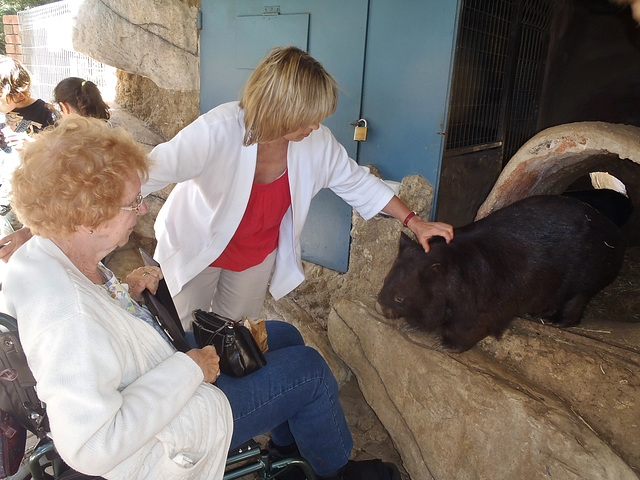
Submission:
[[272,459],[300,455],[313,470],[286,478],[399,478],[391,464],[373,476],[349,461],[337,383],[315,350],[270,339],[265,367],[218,388],[215,349],[176,351],[141,301],[161,272],[137,269],[127,289],[102,264],[147,211],[148,168],[124,130],[69,116],[26,147],[13,175],[12,205],[34,237],[8,263],[5,311],[62,459],[108,479],[220,479],[230,447],[270,432],[284,445]]

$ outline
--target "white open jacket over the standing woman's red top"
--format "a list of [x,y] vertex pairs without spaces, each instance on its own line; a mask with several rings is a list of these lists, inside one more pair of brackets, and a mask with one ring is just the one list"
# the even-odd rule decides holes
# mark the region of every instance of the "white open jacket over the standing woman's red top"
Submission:
[[[235,233],[249,201],[257,146],[242,145],[243,111],[238,102],[200,116],[150,154],[153,162],[144,196],[177,182],[155,223],[169,290],[182,287],[211,264]],[[279,299],[304,280],[300,236],[313,197],[330,188],[368,220],[393,197],[383,181],[350,159],[321,125],[300,142],[289,142],[290,208],[280,226],[270,292]],[[327,228],[331,228],[328,225]]]

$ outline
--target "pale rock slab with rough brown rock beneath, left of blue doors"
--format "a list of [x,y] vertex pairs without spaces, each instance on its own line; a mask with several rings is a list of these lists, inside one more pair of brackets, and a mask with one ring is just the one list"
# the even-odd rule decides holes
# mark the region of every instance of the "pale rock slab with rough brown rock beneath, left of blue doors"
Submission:
[[83,0],[74,48],[119,69],[116,103],[167,140],[200,113],[198,0]]

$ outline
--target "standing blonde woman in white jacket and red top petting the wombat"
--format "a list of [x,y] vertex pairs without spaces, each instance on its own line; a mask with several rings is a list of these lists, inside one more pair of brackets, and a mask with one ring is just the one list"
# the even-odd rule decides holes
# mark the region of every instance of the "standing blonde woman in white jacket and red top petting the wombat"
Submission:
[[[304,280],[300,236],[323,188],[365,219],[384,211],[403,221],[425,250],[431,236],[452,238],[450,225],[422,221],[321,125],[337,99],[336,82],[320,63],[296,47],[275,48],[240,102],[214,108],[151,152],[143,195],[178,183],[156,220],[155,257],[186,330],[196,308],[256,318],[269,279],[276,300]],[[283,188],[254,206],[256,189],[279,182]],[[265,228],[253,228],[262,222]],[[253,256],[269,235],[274,241]],[[252,261],[243,258],[249,253]]]

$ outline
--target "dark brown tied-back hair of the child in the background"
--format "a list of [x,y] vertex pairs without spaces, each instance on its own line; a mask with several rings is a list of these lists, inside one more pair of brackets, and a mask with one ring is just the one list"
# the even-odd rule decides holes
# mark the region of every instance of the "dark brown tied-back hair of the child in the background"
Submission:
[[109,106],[102,99],[100,89],[91,80],[67,77],[53,89],[54,102],[63,115],[77,113],[83,117],[109,120]]

